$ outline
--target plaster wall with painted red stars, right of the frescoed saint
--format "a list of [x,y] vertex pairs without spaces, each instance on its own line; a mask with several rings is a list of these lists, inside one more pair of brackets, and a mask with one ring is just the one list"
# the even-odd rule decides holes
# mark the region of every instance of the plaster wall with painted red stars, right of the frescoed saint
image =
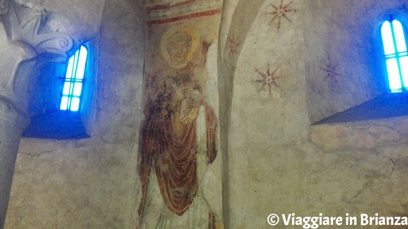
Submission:
[[[373,31],[358,30],[359,24],[349,25],[344,18],[361,19],[368,24],[367,15],[377,15],[384,10],[381,7],[386,11],[400,8],[403,3],[333,1],[325,5],[326,2],[283,1],[280,5],[281,1],[265,1],[241,44],[226,141],[228,228],[268,228],[266,218],[272,213],[279,216],[322,213],[343,218],[346,213],[357,217],[362,213],[406,214],[408,155],[406,132],[401,127],[405,126],[406,117],[310,125],[314,118],[342,111],[380,93],[371,86],[374,82],[369,77],[374,70],[364,60],[373,50],[370,44],[363,44],[364,39],[372,37]],[[281,18],[279,30],[278,18],[271,21],[273,15],[268,14],[274,11],[273,6],[292,10],[286,12],[290,20]],[[326,14],[333,15],[330,19],[338,22],[319,23]],[[347,32],[350,29],[353,32]],[[309,40],[311,34],[314,38]],[[355,37],[354,41],[348,35]],[[320,39],[324,42],[319,42]],[[224,55],[228,52],[227,49]],[[338,58],[338,69],[345,72],[338,80],[344,86],[338,89],[347,90],[330,89],[325,74],[318,72],[322,59],[319,55],[327,53],[331,60]],[[311,72],[311,62],[318,70]],[[272,83],[269,91],[266,80],[273,80],[277,86]],[[315,86],[311,88],[311,84]],[[361,85],[367,86],[362,89]],[[327,88],[327,96],[331,93],[333,99],[318,92],[319,88]],[[292,227],[284,226],[281,218],[275,228]]]

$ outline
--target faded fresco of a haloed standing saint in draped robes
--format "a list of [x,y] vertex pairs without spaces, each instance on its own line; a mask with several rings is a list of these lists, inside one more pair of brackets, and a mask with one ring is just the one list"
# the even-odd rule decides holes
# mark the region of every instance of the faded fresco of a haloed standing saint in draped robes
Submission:
[[203,94],[210,43],[189,23],[165,31],[152,36],[160,45],[147,70],[139,228],[222,228],[199,189],[217,156],[217,118]]

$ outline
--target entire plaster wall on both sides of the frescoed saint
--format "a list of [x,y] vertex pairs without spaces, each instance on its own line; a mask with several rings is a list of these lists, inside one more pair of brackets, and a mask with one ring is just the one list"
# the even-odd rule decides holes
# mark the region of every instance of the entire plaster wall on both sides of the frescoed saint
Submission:
[[[371,78],[376,77],[373,62],[365,59],[374,48],[363,40],[375,33],[360,28],[368,27],[384,9],[403,7],[403,1],[243,3],[252,4],[245,11],[250,15],[235,12],[231,23],[225,23],[228,29],[221,28],[226,40],[210,46],[206,62],[207,99],[214,106],[217,83],[211,78],[217,61],[212,58],[218,48],[220,107],[214,110],[220,113],[223,145],[225,228],[269,228],[266,218],[272,213],[405,216],[407,117],[310,125],[382,92]],[[273,19],[281,3],[289,10],[287,18]],[[143,32],[124,3],[106,5],[92,138],[22,139],[6,228],[136,225]],[[244,6],[238,3],[237,9]],[[158,46],[152,44],[168,27],[151,28],[149,58],[159,58]],[[337,84],[324,80],[328,57],[339,70]],[[147,73],[156,67],[150,63]],[[211,193],[217,186],[209,182],[207,187]],[[275,228],[287,227],[281,221]]]

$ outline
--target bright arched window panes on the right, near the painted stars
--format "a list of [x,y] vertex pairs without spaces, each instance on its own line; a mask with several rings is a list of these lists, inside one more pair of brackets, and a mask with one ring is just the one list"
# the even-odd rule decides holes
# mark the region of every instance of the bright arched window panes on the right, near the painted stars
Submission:
[[408,90],[408,52],[401,22],[392,17],[381,26],[382,44],[391,92]]

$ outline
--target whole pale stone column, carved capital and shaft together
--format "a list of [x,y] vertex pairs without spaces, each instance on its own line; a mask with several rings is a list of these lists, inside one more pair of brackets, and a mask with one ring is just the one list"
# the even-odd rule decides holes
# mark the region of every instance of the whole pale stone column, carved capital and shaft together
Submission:
[[[30,122],[29,87],[33,69],[63,62],[72,39],[60,32],[38,34],[41,15],[16,11],[11,0],[0,0],[0,229],[3,229],[21,133]],[[16,12],[24,12],[18,15]]]

